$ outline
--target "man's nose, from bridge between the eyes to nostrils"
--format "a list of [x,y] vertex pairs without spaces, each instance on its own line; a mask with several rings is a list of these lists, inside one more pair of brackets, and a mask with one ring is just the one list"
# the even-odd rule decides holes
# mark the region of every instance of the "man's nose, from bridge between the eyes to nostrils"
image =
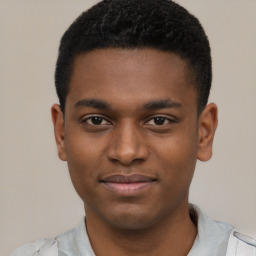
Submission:
[[118,128],[116,127],[107,152],[110,161],[119,162],[122,165],[131,165],[134,162],[142,162],[148,158],[149,150],[145,138],[139,128],[134,126],[126,123]]

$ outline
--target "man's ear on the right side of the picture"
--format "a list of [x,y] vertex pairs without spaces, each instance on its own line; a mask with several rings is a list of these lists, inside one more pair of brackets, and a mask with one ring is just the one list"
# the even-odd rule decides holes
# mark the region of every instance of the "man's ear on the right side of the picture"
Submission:
[[218,125],[218,109],[214,103],[206,105],[198,121],[197,159],[207,161],[212,157],[212,144]]

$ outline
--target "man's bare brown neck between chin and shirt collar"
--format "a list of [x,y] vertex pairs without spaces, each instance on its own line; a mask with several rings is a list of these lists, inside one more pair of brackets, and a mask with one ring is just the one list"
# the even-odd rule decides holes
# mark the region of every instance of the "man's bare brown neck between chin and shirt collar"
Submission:
[[97,256],[186,256],[197,234],[196,225],[189,215],[188,204],[182,212],[178,211],[145,229],[118,229],[99,221],[90,211],[87,211],[86,226]]

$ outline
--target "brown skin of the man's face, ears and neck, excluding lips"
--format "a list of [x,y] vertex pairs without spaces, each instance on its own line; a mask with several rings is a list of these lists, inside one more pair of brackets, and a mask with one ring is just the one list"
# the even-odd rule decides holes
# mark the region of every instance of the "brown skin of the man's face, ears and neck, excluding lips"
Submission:
[[[65,122],[52,107],[58,154],[84,201],[97,256],[187,255],[193,245],[189,186],[197,159],[212,155],[217,107],[198,115],[186,70],[179,56],[154,49],[84,53],[74,62]],[[113,190],[105,180],[116,174],[150,182]]]

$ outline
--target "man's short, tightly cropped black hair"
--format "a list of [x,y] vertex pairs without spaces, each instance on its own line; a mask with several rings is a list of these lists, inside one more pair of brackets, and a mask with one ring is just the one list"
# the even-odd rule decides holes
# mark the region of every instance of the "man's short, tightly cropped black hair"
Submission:
[[104,48],[152,48],[177,54],[192,74],[198,111],[207,104],[211,50],[198,19],[171,0],[103,0],[83,12],[61,38],[55,86],[63,113],[75,58]]

